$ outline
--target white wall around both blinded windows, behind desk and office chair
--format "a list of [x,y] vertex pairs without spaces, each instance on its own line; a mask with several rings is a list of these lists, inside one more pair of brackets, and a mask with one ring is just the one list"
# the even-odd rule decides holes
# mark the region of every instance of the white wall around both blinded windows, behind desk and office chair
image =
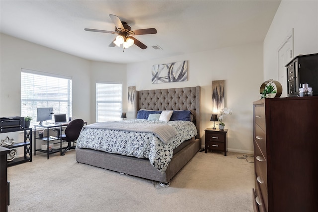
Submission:
[[[127,104],[126,65],[91,62],[5,34],[0,36],[1,117],[21,115],[21,68],[72,76],[73,117],[88,124],[95,122],[96,80],[122,82],[124,105]],[[18,133],[1,134],[0,138],[5,136],[21,140]]]

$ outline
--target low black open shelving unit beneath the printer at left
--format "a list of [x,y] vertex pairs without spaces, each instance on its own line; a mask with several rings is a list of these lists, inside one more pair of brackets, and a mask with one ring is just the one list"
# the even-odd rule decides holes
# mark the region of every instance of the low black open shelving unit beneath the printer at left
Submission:
[[24,142],[17,142],[10,146],[4,146],[5,148],[8,148],[8,149],[24,147],[24,156],[14,158],[12,161],[7,161],[8,167],[16,165],[16,164],[20,164],[20,163],[32,162],[32,128],[24,128],[23,131],[24,131]]

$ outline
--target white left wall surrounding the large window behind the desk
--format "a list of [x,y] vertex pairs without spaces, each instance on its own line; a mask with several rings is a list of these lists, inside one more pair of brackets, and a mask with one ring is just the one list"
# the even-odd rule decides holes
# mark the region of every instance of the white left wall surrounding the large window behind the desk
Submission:
[[21,115],[21,68],[71,76],[73,116],[90,122],[90,62],[1,34],[0,116]]

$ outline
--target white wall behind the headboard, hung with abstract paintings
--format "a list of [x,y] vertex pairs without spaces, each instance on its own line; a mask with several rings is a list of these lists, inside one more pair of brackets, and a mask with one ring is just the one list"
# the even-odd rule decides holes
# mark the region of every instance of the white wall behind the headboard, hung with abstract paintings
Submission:
[[[212,80],[225,79],[225,106],[233,115],[224,119],[230,151],[252,153],[252,102],[260,98],[263,82],[262,43],[215,49],[127,65],[127,86],[136,90],[201,86],[201,141],[206,128],[213,127]],[[188,61],[188,81],[152,84],[151,67],[156,64]],[[134,118],[133,113],[128,118]]]

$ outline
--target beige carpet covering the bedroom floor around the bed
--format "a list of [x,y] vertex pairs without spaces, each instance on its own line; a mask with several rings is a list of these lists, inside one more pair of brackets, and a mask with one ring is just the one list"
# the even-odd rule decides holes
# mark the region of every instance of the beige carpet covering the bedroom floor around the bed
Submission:
[[38,154],[8,168],[8,211],[252,212],[254,164],[238,156],[198,152],[170,187],[156,189],[150,180],[77,163],[75,150],[49,160]]

